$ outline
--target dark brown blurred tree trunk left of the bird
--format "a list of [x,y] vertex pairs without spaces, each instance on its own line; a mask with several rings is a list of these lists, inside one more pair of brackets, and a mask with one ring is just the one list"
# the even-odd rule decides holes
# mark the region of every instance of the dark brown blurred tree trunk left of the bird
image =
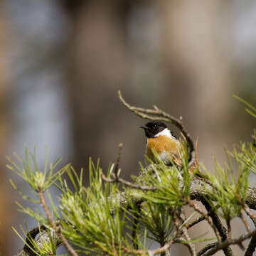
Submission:
[[[121,114],[124,109],[117,97],[117,90],[129,85],[131,72],[125,39],[125,13],[129,7],[125,2],[66,2],[73,29],[68,98],[73,121],[73,164],[78,169],[87,167],[89,156],[94,161],[100,157],[106,167],[116,158],[119,142],[129,141],[121,134],[132,117]],[[132,152],[127,149],[127,163]]]

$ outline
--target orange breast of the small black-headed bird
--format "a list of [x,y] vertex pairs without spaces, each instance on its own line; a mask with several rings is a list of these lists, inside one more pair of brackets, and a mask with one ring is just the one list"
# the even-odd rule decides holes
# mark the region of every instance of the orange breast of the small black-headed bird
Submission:
[[177,161],[177,164],[180,165],[181,159],[177,159],[180,156],[178,153],[178,143],[177,140],[164,135],[160,135],[156,138],[149,138],[147,140],[146,155],[149,156],[149,159],[154,161],[154,150],[157,154],[161,154],[165,151],[173,161]]

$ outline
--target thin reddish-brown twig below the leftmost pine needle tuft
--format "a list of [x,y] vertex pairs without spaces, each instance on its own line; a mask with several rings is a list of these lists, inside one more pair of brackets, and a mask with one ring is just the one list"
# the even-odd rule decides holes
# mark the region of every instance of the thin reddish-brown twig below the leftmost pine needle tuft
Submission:
[[60,240],[62,240],[63,245],[65,246],[65,248],[68,250],[68,252],[70,253],[70,255],[72,256],[78,256],[78,254],[75,252],[75,250],[73,249],[73,247],[68,243],[68,240],[65,239],[63,233],[61,233],[60,231],[60,226],[57,227],[57,225],[55,224],[55,222],[53,221],[53,218],[50,215],[50,211],[48,210],[48,207],[46,205],[46,200],[44,198],[43,195],[43,191],[38,191],[38,196],[40,198],[40,203],[41,206],[43,208],[43,210],[46,213],[48,222],[50,223],[50,225],[53,227],[53,230],[55,231],[56,235],[58,235],[58,238],[60,238]]

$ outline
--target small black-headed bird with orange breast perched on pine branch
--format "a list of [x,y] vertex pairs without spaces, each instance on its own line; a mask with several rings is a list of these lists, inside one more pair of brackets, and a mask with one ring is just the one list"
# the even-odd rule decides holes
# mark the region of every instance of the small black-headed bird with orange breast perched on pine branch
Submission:
[[164,122],[147,122],[140,126],[146,135],[146,156],[152,161],[156,161],[155,152],[161,161],[167,166],[176,164],[182,165],[181,142],[176,138]]

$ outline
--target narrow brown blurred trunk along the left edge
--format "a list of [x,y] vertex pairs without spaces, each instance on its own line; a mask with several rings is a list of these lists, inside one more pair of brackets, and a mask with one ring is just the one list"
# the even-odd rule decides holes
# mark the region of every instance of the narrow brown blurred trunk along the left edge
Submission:
[[6,55],[6,17],[0,2],[0,255],[11,254],[11,223],[13,210],[11,210],[11,187],[6,175],[6,149],[9,142],[8,110],[7,110],[7,67]]

